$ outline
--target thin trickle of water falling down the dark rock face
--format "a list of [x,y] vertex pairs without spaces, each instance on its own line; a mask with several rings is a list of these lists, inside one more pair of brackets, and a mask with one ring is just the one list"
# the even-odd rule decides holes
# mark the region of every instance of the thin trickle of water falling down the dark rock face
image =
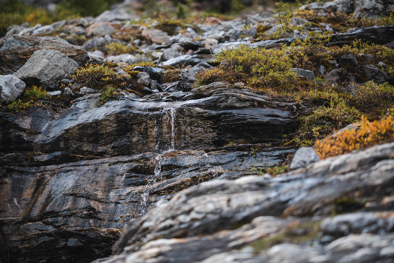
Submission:
[[[165,150],[164,152],[162,152],[161,154],[158,154],[158,156],[156,156],[156,166],[154,167],[154,173],[153,175],[150,175],[148,180],[147,180],[147,184],[144,186],[143,192],[141,193],[141,206],[139,208],[139,216],[145,214],[147,212],[148,209],[148,199],[149,199],[149,194],[151,193],[151,187],[156,184],[156,182],[159,182],[160,180],[162,180],[162,176],[161,171],[162,171],[162,160],[163,160],[163,156],[164,154],[166,154],[167,152],[171,152],[173,150],[175,150],[175,116],[176,116],[176,108],[169,108],[169,109],[162,109],[160,110],[160,112],[165,112],[167,114],[167,119],[168,122],[171,124],[171,145],[168,145],[167,150]],[[159,131],[159,127],[158,127],[158,121],[155,121],[155,128],[154,131],[157,134]],[[158,140],[157,140],[157,144],[155,147],[155,150],[158,151],[160,150],[160,143],[162,140],[160,140],[160,136],[158,136]]]

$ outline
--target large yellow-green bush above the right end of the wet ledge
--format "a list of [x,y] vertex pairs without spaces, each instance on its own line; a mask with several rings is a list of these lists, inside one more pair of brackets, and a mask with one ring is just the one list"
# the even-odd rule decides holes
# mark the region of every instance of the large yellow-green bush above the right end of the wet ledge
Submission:
[[[203,71],[196,75],[200,85],[213,81],[227,81],[230,84],[242,81],[259,90],[287,90],[297,85],[297,74],[291,69],[292,61],[282,49],[266,49],[241,44],[215,55],[216,62],[226,60],[228,68]],[[231,81],[234,79],[234,81]]]

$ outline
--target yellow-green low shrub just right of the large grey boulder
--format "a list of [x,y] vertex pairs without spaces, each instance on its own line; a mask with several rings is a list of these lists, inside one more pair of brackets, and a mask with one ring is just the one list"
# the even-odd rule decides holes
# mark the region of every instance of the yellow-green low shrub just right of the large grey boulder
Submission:
[[108,68],[105,65],[86,64],[84,67],[76,71],[72,75],[72,79],[81,85],[88,88],[102,89],[107,85],[114,85],[117,87],[126,86],[123,78],[127,75],[118,75],[113,68]]

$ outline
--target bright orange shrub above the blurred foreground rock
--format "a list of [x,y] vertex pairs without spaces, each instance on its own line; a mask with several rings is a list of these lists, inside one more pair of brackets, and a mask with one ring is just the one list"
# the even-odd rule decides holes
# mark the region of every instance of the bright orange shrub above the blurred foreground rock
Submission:
[[365,117],[357,122],[357,128],[338,131],[316,142],[316,152],[320,158],[361,150],[381,143],[394,141],[394,118],[390,114],[381,120],[369,122]]

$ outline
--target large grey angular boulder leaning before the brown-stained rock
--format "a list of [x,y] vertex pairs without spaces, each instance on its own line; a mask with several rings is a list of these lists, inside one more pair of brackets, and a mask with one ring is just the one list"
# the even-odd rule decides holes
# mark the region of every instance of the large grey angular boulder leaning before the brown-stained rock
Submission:
[[78,64],[53,49],[41,49],[33,53],[29,60],[14,73],[28,85],[57,88],[59,81],[73,74]]

